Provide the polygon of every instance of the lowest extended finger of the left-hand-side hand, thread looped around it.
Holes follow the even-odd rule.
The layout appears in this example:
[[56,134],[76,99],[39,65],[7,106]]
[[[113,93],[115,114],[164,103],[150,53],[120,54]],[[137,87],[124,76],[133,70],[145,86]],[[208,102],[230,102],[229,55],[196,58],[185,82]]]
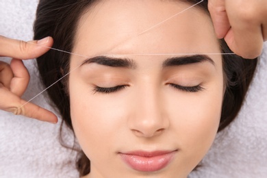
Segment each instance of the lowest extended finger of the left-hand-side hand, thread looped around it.
[[45,110],[33,103],[26,103],[23,99],[10,92],[7,88],[0,85],[0,109],[12,112],[16,115],[23,115],[29,118],[36,118],[38,120],[49,123],[57,123],[58,118],[52,112]]

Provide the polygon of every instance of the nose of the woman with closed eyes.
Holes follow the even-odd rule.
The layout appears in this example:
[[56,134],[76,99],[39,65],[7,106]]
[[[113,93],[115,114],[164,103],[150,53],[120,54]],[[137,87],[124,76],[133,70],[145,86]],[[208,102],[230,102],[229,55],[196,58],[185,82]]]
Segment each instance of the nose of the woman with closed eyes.
[[128,125],[138,137],[151,138],[159,136],[169,126],[169,120],[164,114],[164,102],[159,92],[143,92],[133,100],[133,114]]

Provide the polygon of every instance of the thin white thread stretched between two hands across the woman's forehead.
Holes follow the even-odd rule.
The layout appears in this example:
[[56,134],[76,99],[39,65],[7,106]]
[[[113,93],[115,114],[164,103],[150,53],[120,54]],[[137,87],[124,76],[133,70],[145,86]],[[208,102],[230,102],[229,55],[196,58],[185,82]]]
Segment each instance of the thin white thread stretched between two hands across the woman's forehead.
[[[160,23],[157,23],[156,25],[153,25],[152,27],[149,27],[149,29],[146,29],[144,31],[142,31],[140,34],[138,34],[138,36],[146,33],[147,31],[150,31],[151,29],[154,29],[155,27],[158,27],[160,25],[162,25],[163,23],[165,23],[166,21],[169,21],[171,18],[174,18],[175,16],[183,13],[183,12],[186,12],[187,10],[189,10],[190,8],[193,8],[195,5],[198,5],[199,3],[202,3],[204,0],[201,0],[199,1],[198,3],[190,6],[189,8],[186,8],[185,10],[182,10],[181,12],[173,15],[173,16],[170,16],[169,18],[165,19],[164,21],[160,22]],[[32,42],[28,42],[29,44],[34,44]],[[79,57],[83,57],[83,58],[89,58],[88,56],[86,55],[80,55],[80,54],[77,54],[77,53],[71,53],[69,51],[64,51],[64,50],[61,50],[61,49],[55,49],[55,48],[52,48],[52,47],[45,47],[45,46],[42,46],[40,44],[34,44],[34,45],[37,45],[37,46],[40,46],[40,47],[44,47],[44,48],[48,48],[48,49],[52,49],[52,50],[55,50],[55,51],[60,51],[62,53],[69,53],[71,55],[77,55]],[[120,55],[234,55],[235,53],[136,53],[136,54],[120,54]],[[112,55],[112,54],[104,54],[104,55]],[[114,54],[113,54],[114,55]],[[117,55],[117,54],[116,54]],[[79,65],[81,66],[81,64]],[[75,71],[77,68],[79,68],[79,66],[73,68],[73,70],[71,70],[70,72],[66,73],[66,75],[64,75],[63,77],[61,77],[60,79],[58,79],[57,81],[55,81],[53,84],[51,84],[49,87],[45,88],[44,90],[42,90],[40,93],[36,94],[35,97],[29,99],[29,101],[27,101],[26,103],[24,103],[23,105],[21,105],[21,107],[23,107],[24,105],[26,105],[27,103],[29,103],[30,101],[36,99],[36,97],[38,97],[40,94],[42,94],[43,92],[45,92],[46,90],[48,90],[49,88],[51,88],[53,85],[55,85],[56,83],[58,83],[58,81],[64,79],[64,77],[66,77],[67,75],[69,75],[70,73],[72,73],[73,71]]]

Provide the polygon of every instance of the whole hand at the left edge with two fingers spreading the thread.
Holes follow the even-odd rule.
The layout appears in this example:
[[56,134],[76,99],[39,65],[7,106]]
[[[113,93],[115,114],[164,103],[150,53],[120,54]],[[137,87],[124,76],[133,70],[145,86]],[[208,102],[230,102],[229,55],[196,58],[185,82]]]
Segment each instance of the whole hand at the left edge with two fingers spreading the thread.
[[0,110],[57,123],[58,118],[52,112],[33,103],[23,105],[26,101],[21,96],[29,84],[29,73],[22,60],[37,58],[49,51],[49,48],[30,43],[51,47],[53,39],[48,37],[27,43],[0,36],[0,56],[13,58],[10,65],[0,61]]

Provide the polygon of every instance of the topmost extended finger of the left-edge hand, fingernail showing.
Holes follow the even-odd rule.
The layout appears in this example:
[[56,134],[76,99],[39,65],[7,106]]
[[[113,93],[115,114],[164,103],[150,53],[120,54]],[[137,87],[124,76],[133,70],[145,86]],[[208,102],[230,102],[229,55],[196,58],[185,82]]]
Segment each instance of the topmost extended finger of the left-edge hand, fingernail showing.
[[53,44],[53,38],[24,42],[0,36],[0,56],[6,56],[21,60],[38,58],[49,51]]

